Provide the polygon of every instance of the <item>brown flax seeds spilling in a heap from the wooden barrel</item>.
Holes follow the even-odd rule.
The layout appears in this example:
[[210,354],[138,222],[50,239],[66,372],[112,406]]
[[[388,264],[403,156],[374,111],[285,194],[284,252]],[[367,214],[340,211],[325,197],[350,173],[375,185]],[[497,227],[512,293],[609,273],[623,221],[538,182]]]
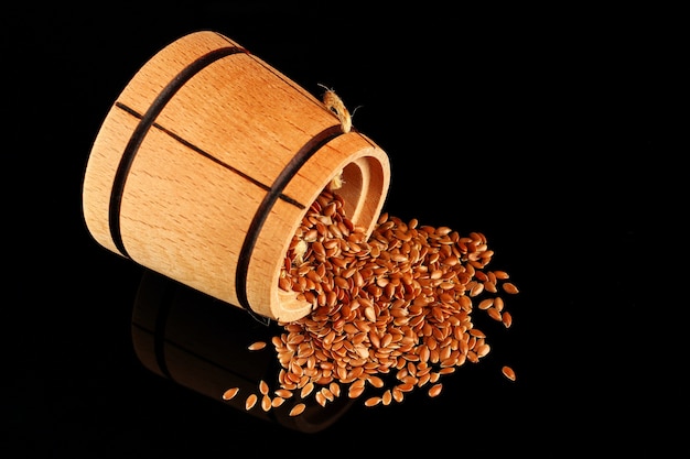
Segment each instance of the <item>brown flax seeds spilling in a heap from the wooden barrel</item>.
[[[321,193],[292,239],[279,286],[312,310],[279,323],[284,331],[272,338],[278,387],[260,381],[257,392],[246,394],[247,411],[268,412],[290,401],[297,416],[309,397],[325,407],[367,387],[376,395],[365,398],[366,406],[402,402],[414,390],[434,397],[442,375],[490,351],[473,324],[475,308],[511,325],[500,295],[518,288],[505,271],[487,269],[494,252],[484,234],[461,236],[385,212],[367,237],[345,215],[339,186],[334,179]],[[249,350],[265,347],[255,342]],[[502,370],[515,381],[510,367]],[[231,387],[223,398],[237,394]]]

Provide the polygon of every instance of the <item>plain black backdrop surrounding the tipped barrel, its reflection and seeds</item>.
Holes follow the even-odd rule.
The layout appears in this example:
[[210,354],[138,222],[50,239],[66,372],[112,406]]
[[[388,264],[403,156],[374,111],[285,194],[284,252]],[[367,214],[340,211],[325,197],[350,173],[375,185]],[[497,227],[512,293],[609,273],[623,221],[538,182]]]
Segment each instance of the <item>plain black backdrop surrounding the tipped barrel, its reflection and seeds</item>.
[[[687,453],[687,422],[671,420],[687,408],[686,360],[669,356],[688,305],[661,298],[687,284],[673,267],[687,194],[687,147],[671,142],[687,132],[677,13],[446,4],[7,9],[3,457]],[[356,403],[302,434],[137,359],[144,271],[90,238],[83,173],[128,80],[197,30],[358,107],[355,127],[391,160],[389,214],[487,236],[520,287],[514,326],[487,323],[492,353],[439,397]]]

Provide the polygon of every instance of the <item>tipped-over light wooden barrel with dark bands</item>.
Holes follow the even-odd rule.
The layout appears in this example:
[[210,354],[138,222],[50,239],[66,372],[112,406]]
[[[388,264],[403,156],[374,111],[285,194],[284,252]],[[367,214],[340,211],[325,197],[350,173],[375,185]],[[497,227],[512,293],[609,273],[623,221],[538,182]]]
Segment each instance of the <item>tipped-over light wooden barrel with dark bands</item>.
[[84,175],[88,231],[106,249],[274,320],[311,305],[278,287],[290,241],[338,174],[368,233],[387,154],[294,81],[213,31],[158,52],[125,87]]

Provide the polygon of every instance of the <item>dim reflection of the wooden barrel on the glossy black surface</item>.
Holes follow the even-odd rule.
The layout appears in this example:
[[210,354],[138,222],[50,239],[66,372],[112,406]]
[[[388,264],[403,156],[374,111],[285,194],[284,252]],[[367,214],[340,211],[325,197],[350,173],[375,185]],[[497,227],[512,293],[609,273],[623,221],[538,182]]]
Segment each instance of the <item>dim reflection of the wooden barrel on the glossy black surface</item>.
[[[351,406],[348,397],[337,397],[325,407],[313,397],[304,401],[306,411],[290,416],[295,401],[265,411],[260,406],[259,381],[278,389],[280,370],[271,338],[282,331],[274,323],[267,326],[240,308],[227,305],[159,273],[145,270],[132,312],[132,343],[141,363],[162,378],[283,427],[315,433],[335,423]],[[256,341],[262,350],[249,350]],[[223,400],[223,393],[239,387],[239,394]],[[248,394],[259,403],[246,409]]]

